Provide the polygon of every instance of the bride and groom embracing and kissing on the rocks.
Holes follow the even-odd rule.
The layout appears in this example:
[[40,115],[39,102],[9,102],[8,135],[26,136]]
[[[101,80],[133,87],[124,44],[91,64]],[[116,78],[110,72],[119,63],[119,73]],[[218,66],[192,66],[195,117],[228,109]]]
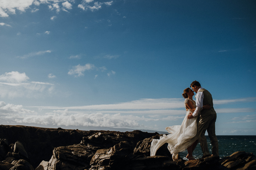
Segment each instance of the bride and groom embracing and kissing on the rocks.
[[[153,139],[151,142],[150,156],[154,156],[157,150],[165,143],[168,143],[168,150],[172,154],[172,159],[178,159],[178,153],[188,151],[186,158],[193,160],[192,153],[196,145],[200,142],[203,158],[218,155],[218,139],[215,135],[215,121],[217,118],[213,108],[212,95],[198,81],[193,81],[190,88],[183,91],[185,98],[186,116],[181,125],[166,127],[169,135],[163,135],[160,139]],[[196,92],[196,102],[192,97]],[[212,144],[212,155],[209,153],[205,132]]]

